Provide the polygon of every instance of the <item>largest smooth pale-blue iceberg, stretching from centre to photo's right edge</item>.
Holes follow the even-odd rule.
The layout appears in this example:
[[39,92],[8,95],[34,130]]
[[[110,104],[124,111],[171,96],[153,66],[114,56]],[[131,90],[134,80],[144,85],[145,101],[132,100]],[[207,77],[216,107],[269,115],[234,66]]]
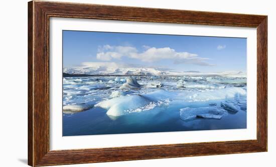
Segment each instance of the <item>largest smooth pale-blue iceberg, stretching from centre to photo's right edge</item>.
[[[172,92],[159,89],[145,94],[131,94],[127,96],[114,97],[112,99],[104,100],[97,103],[95,106],[105,108],[106,114],[110,116],[120,116],[128,114],[129,111],[140,111],[145,108],[146,105],[157,104],[159,101],[170,101],[180,100],[183,102],[191,101],[207,101],[207,100],[218,100],[225,98],[233,98],[237,95],[246,95],[246,91],[240,87],[229,87],[223,90],[212,90],[212,91],[197,91],[197,92]],[[217,108],[210,106],[209,108]],[[139,109],[140,108],[140,109]],[[204,109],[204,108],[203,108]],[[201,113],[202,114],[202,113]],[[205,115],[205,117],[207,117]]]

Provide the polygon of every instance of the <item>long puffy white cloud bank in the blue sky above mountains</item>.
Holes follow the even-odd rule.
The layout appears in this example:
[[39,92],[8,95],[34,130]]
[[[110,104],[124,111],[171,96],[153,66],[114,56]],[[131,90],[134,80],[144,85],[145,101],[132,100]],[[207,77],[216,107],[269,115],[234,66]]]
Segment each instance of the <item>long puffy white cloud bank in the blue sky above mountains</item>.
[[171,59],[175,63],[192,63],[197,65],[214,65],[209,64],[205,60],[209,58],[199,57],[197,54],[189,52],[177,52],[175,49],[170,47],[150,47],[143,45],[145,51],[139,52],[135,47],[132,46],[110,46],[103,45],[99,46],[97,59],[110,61],[111,59],[120,59],[122,56],[129,58],[140,59],[146,62],[159,61],[161,59]]

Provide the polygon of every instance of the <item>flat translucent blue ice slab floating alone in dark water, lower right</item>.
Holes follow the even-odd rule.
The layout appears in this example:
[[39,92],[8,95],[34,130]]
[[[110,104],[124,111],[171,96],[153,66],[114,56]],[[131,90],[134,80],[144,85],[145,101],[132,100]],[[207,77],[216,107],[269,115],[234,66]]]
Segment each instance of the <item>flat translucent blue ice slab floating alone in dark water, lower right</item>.
[[191,120],[195,118],[212,118],[220,119],[222,116],[227,115],[227,112],[218,107],[207,106],[199,108],[181,108],[180,109],[180,118],[182,120]]

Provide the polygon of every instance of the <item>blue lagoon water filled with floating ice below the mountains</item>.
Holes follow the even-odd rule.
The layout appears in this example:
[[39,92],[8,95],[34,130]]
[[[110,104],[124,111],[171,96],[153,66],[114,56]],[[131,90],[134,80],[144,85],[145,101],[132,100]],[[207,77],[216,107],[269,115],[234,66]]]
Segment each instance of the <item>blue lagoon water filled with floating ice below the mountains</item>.
[[128,77],[64,77],[63,136],[246,128],[246,78]]

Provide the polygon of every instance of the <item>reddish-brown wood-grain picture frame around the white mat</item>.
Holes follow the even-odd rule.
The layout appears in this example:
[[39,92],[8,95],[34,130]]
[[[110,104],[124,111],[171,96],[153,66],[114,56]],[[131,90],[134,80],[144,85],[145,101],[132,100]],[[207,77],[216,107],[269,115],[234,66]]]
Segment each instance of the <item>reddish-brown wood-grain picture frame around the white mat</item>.
[[[28,4],[28,164],[74,164],[267,151],[267,16],[30,1]],[[257,139],[49,150],[49,18],[243,26],[257,28]]]

